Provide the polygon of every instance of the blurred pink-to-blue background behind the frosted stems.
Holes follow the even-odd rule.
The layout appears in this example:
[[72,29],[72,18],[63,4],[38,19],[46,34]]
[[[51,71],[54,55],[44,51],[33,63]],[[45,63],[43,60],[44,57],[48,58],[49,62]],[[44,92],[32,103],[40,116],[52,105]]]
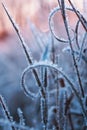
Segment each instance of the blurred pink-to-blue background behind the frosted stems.
[[[72,0],[72,2],[87,18],[87,0]],[[4,4],[18,24],[33,57],[39,60],[44,46],[50,39],[48,17],[50,11],[58,5],[57,0],[4,0]],[[69,6],[67,0],[66,4]],[[72,12],[67,13],[70,25],[74,28],[77,17]],[[54,16],[54,25],[56,34],[65,37],[60,14]],[[32,100],[24,95],[20,85],[21,74],[25,67],[27,67],[27,62],[20,41],[0,2],[0,93],[5,97],[13,117],[17,119],[17,108],[20,107],[28,120],[27,123],[32,126],[37,119],[29,121],[28,111],[31,109],[30,114],[32,113],[33,116],[36,113],[32,107],[29,108]],[[34,86],[32,78],[30,86]],[[33,101],[33,105],[37,106],[38,102]],[[36,109],[39,112],[39,108]]]

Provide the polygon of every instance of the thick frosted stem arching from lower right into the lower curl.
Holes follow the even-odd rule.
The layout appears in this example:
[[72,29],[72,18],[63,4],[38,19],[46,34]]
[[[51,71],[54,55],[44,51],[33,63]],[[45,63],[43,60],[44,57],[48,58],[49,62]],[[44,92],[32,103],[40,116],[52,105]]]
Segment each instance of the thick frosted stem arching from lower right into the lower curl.
[[[84,121],[86,123],[86,121],[87,121],[87,114],[86,114],[86,111],[84,109],[84,105],[83,105],[82,99],[81,99],[80,95],[78,94],[78,92],[76,90],[76,86],[71,82],[69,77],[61,69],[57,68],[56,66],[57,65],[52,64],[52,63],[48,63],[48,62],[47,63],[39,62],[39,63],[36,63],[34,65],[31,65],[31,66],[27,67],[26,70],[24,71],[24,73],[22,75],[22,83],[24,84],[26,73],[29,72],[30,70],[34,69],[34,68],[39,68],[39,67],[45,67],[46,68],[46,67],[48,67],[49,69],[53,69],[56,73],[59,72],[67,80],[67,82],[71,86],[72,90],[74,91],[76,97],[78,98],[78,101],[79,101],[80,106],[81,106],[82,111],[83,111]],[[24,85],[24,87],[25,87],[25,85]]]

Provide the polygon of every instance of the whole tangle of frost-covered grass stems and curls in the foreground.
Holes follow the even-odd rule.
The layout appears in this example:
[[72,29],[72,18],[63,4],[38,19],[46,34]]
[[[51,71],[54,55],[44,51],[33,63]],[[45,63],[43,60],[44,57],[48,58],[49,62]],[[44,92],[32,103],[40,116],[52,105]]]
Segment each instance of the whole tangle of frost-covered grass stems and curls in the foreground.
[[[74,7],[71,0],[68,0],[68,2],[70,8],[66,7],[65,0],[58,0],[58,7],[51,11],[48,19],[49,35],[45,40],[46,43],[41,39],[35,26],[29,22],[33,36],[39,46],[37,52],[40,55],[39,61],[34,59],[31,48],[28,47],[19,27],[2,3],[20,40],[27,60],[27,67],[23,70],[21,68],[22,62],[18,64],[21,68],[20,72],[18,66],[15,68],[21,75],[18,76],[20,77],[18,81],[21,82],[22,90],[13,91],[16,96],[10,99],[11,111],[8,110],[7,103],[0,95],[1,110],[4,113],[4,116],[2,113],[0,118],[0,129],[87,129],[87,21]],[[73,29],[69,26],[70,19],[68,19],[67,11],[73,12],[77,16],[78,20]],[[67,39],[60,38],[55,33],[53,21],[56,13],[62,16]],[[81,37],[80,31],[82,31]],[[59,47],[60,44],[62,44],[62,47]],[[23,56],[20,56],[20,58],[23,58]],[[15,109],[18,116],[14,114]],[[13,114],[15,116],[12,117]]]

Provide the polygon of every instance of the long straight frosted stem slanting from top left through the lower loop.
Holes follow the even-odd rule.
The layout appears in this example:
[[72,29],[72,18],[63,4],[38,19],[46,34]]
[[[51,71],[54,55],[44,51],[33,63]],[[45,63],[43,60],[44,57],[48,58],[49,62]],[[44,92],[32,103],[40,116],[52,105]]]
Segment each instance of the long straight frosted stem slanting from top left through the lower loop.
[[[15,31],[16,31],[16,33],[17,33],[19,39],[20,39],[20,41],[21,41],[23,50],[24,50],[24,52],[25,52],[25,55],[26,55],[26,57],[27,57],[27,60],[28,60],[29,64],[33,64],[33,59],[32,59],[32,57],[31,57],[30,54],[29,54],[29,52],[30,52],[30,51],[29,51],[29,48],[28,48],[27,44],[25,43],[25,41],[24,41],[24,39],[23,39],[23,37],[22,37],[22,35],[21,35],[21,33],[20,33],[19,28],[17,27],[15,21],[11,18],[11,16],[10,16],[8,10],[6,9],[6,7],[5,7],[5,5],[4,5],[3,3],[2,3],[2,6],[3,6],[3,8],[4,8],[4,10],[5,10],[5,12],[6,12],[6,14],[7,14],[8,18],[9,18],[9,20],[11,21],[11,23],[12,23],[12,25],[13,25],[13,27],[14,27],[14,29],[15,29]],[[35,76],[35,79],[36,79],[36,81],[37,81],[38,86],[41,87],[42,85],[41,85],[39,76],[38,76],[38,74],[37,74],[37,72],[36,72],[35,69],[33,69],[33,74],[34,74],[34,76]]]

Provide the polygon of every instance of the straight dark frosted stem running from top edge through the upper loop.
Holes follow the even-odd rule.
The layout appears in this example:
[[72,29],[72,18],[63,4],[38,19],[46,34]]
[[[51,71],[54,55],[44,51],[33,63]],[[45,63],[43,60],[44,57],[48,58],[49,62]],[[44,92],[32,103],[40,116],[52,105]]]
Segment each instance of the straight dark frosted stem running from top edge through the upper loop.
[[72,41],[71,41],[71,37],[70,37],[70,33],[69,33],[64,0],[61,0],[61,13],[62,13],[63,21],[64,21],[64,24],[65,24],[66,33],[67,33],[67,36],[68,36],[68,39],[69,39],[69,44],[70,44],[70,48],[71,48],[71,52],[72,52],[74,67],[76,69],[76,73],[77,73],[77,77],[78,77],[78,81],[79,81],[81,95],[82,95],[82,97],[84,97],[84,90],[83,90],[83,86],[82,86],[82,82],[81,82],[81,78],[80,78],[80,74],[79,74],[79,70],[78,70],[78,65],[76,63],[76,59],[75,59],[75,56],[74,56],[74,50],[73,50],[73,47],[72,47]]

